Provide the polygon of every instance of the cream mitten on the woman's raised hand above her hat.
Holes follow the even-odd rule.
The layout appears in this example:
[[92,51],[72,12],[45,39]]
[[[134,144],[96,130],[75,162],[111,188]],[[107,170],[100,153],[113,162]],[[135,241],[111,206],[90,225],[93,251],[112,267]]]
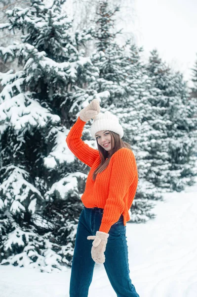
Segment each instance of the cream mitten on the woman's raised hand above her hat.
[[86,107],[81,109],[79,117],[83,122],[95,118],[100,112],[100,104],[98,99],[93,99]]

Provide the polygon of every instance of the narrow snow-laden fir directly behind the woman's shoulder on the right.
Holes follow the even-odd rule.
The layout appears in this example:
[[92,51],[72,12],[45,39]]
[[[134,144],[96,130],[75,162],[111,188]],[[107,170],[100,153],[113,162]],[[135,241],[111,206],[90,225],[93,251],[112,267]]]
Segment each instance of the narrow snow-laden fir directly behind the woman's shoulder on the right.
[[138,165],[138,189],[131,207],[131,220],[134,222],[154,218],[155,214],[150,212],[155,204],[153,200],[162,198],[156,185],[147,178],[150,166],[148,137],[152,135],[154,138],[157,133],[148,122],[155,112],[150,101],[158,94],[158,90],[152,86],[148,78],[141,58],[142,51],[142,48],[128,42],[125,82],[130,88],[129,95],[126,104],[122,104],[122,108],[117,108],[124,129],[124,140],[131,144]]

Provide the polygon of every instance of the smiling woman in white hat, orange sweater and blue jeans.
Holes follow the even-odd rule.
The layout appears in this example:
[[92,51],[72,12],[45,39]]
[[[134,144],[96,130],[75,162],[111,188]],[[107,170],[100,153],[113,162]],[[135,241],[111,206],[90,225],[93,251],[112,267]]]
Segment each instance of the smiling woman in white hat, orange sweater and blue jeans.
[[[91,167],[81,196],[84,207],[76,235],[70,297],[88,296],[95,262],[104,263],[118,297],[139,297],[129,278],[125,234],[128,210],[137,190],[136,161],[130,146],[121,140],[123,129],[118,118],[109,111],[99,112],[99,101],[93,99],[79,112],[66,138],[70,150]],[[90,132],[98,150],[81,140],[83,127],[91,118]]]

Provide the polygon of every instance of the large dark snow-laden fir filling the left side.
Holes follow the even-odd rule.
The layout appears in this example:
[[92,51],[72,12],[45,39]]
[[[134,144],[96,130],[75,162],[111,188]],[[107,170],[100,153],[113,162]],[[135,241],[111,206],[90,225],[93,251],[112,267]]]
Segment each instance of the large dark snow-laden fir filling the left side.
[[83,49],[92,29],[72,33],[64,2],[31,0],[0,26],[23,34],[0,47],[21,67],[0,73],[0,263],[47,272],[71,264],[86,174],[65,139],[98,96],[88,89],[98,68]]

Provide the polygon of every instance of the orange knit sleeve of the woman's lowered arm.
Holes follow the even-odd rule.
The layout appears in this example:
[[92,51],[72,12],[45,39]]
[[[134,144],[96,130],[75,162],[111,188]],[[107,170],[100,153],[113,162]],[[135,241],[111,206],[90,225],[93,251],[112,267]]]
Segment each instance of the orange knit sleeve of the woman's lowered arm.
[[[129,200],[133,200],[137,190],[138,172],[135,156],[129,148],[121,148],[113,158],[109,195],[104,206],[99,231],[108,233],[125,208],[124,197],[130,189]],[[126,201],[127,202],[127,201]]]

